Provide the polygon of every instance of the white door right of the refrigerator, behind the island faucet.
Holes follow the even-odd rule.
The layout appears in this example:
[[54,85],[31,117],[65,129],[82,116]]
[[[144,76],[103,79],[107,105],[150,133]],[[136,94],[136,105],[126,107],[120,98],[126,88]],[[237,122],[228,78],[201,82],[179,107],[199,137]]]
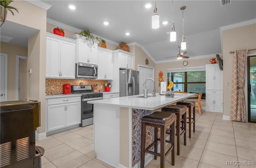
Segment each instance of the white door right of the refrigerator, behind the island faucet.
[[[139,66],[138,71],[140,72],[140,94],[143,94],[143,84],[147,78],[153,78],[153,68],[152,67],[144,67],[144,66]],[[156,86],[158,85],[158,81],[155,81]],[[156,87],[155,86],[155,87]],[[148,80],[146,83],[146,87],[148,90],[148,93],[153,92],[153,82],[151,80]]]

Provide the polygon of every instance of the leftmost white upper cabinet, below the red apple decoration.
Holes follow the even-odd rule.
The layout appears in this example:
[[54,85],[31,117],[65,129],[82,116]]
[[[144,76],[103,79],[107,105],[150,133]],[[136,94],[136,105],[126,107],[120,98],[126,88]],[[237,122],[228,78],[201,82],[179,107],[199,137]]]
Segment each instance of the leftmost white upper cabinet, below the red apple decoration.
[[76,41],[47,33],[46,78],[75,78]]

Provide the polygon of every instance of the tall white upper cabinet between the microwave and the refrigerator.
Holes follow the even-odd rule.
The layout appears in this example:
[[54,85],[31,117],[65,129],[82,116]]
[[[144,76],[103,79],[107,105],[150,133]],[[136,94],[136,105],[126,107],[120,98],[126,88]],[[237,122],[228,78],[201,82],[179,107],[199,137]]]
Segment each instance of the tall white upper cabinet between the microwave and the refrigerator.
[[113,80],[113,56],[112,51],[98,47],[98,78]]

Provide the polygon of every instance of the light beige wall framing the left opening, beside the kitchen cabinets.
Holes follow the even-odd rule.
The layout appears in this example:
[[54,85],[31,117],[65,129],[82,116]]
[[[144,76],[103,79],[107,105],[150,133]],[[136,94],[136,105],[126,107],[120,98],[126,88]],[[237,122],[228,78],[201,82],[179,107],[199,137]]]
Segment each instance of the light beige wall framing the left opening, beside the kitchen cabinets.
[[14,16],[8,12],[7,20],[38,29],[33,37],[28,39],[28,99],[41,102],[41,127],[38,133],[45,132],[45,72],[46,72],[46,10],[24,0],[12,2],[19,13]]

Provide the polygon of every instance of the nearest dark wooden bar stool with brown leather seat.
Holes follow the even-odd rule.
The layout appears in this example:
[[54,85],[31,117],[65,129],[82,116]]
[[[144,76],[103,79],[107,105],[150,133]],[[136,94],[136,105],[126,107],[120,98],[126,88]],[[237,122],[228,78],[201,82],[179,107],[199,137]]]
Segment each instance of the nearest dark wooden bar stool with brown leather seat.
[[[160,168],[164,168],[164,161],[169,152],[172,152],[172,165],[174,166],[174,135],[175,135],[175,114],[155,111],[150,115],[141,118],[141,152],[140,152],[140,168],[144,168],[145,153],[154,155],[154,159],[160,156]],[[146,146],[146,126],[154,127],[154,142],[147,148]],[[168,127],[170,128],[168,129]],[[160,128],[160,138],[158,136],[158,128]],[[166,132],[170,133],[170,141],[166,140]],[[160,141],[160,153],[157,152],[158,141]],[[165,143],[171,143],[172,146],[165,152]],[[154,146],[154,152],[149,150]]]

